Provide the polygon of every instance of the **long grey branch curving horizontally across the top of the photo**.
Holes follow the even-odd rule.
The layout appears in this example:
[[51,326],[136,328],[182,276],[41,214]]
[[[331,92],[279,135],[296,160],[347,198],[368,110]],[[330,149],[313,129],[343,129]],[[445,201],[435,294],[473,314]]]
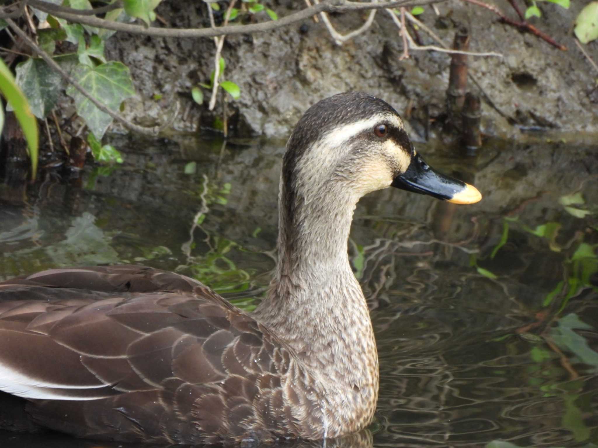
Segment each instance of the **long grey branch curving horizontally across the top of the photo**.
[[[444,1],[444,0],[440,0]],[[361,3],[350,2],[348,0],[325,0],[324,2],[312,5],[297,13],[281,17],[279,20],[271,20],[264,23],[251,23],[247,25],[219,26],[217,28],[158,28],[145,27],[129,23],[111,22],[110,20],[98,19],[97,17],[84,17],[80,13],[72,14],[60,11],[56,5],[41,0],[29,0],[29,5],[38,8],[38,10],[70,22],[81,23],[90,26],[96,26],[104,29],[111,29],[132,34],[142,34],[147,36],[167,37],[167,38],[203,38],[234,34],[248,34],[270,31],[273,29],[287,26],[291,23],[300,22],[309,19],[318,13],[337,13],[345,11],[361,10],[379,10],[382,8],[395,8],[399,6],[411,7],[417,5],[428,5],[438,3],[439,0],[399,0],[393,2],[381,3]]]

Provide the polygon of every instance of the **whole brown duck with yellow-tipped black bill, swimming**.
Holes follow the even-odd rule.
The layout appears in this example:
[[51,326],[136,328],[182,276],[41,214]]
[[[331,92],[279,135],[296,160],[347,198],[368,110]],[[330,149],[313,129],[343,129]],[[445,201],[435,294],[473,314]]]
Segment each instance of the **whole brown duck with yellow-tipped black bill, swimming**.
[[359,198],[390,186],[481,199],[426,164],[384,100],[315,103],[286,145],[278,261],[254,312],[147,266],[3,281],[0,393],[36,425],[98,440],[258,446],[366,428],[379,363],[347,241]]

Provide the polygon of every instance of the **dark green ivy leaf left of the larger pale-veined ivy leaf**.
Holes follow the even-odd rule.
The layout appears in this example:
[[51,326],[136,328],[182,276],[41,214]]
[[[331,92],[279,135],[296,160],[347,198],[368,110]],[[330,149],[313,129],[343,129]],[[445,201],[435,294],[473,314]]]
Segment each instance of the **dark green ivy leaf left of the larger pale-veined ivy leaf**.
[[[60,96],[62,78],[43,59],[29,59],[17,65],[17,84],[29,100],[31,112],[44,119]],[[12,109],[10,109],[12,110]]]

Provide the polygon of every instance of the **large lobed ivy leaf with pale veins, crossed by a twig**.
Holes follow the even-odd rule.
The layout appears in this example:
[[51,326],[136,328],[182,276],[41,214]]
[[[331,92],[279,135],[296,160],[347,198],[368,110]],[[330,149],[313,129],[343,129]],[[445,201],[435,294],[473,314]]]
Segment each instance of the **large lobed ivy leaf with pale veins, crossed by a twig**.
[[[123,100],[135,94],[129,67],[120,62],[108,62],[97,67],[79,65],[72,75],[91,96],[117,111]],[[82,116],[87,126],[98,138],[102,138],[112,122],[112,117],[100,111],[89,99],[72,85],[66,94],[75,99],[77,113]]]

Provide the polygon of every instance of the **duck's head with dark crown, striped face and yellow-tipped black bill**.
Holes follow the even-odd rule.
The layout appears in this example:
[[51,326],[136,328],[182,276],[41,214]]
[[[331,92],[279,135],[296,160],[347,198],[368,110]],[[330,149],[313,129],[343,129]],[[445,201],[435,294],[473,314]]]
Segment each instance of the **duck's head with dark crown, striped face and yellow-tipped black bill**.
[[307,109],[286,148],[282,188],[291,207],[310,191],[334,188],[358,200],[391,185],[457,204],[481,199],[474,186],[426,164],[395,109],[365,93],[340,93]]

